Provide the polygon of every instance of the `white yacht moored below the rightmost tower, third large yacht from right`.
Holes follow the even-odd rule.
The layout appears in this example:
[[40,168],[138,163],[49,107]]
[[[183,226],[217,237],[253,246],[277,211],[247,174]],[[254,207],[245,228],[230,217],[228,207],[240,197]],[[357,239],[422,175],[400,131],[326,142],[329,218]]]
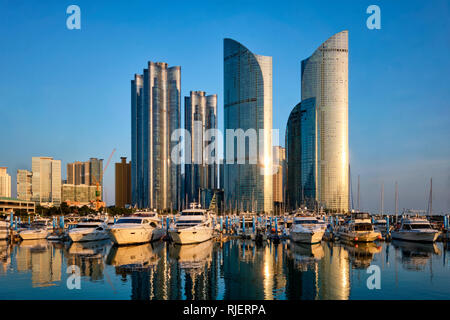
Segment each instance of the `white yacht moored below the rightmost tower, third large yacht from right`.
[[319,243],[325,229],[325,223],[316,217],[295,216],[289,229],[289,237],[294,242]]

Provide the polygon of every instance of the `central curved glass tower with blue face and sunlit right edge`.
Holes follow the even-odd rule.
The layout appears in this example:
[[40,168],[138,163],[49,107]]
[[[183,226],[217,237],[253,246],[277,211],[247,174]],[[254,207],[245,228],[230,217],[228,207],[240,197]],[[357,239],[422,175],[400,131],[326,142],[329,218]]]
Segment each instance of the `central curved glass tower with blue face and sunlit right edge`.
[[258,155],[257,163],[250,163],[255,142],[247,138],[245,155],[238,158],[236,143],[230,155],[225,132],[225,201],[244,210],[255,204],[259,212],[273,212],[272,57],[253,54],[232,39],[224,39],[224,112],[225,130],[256,130]]

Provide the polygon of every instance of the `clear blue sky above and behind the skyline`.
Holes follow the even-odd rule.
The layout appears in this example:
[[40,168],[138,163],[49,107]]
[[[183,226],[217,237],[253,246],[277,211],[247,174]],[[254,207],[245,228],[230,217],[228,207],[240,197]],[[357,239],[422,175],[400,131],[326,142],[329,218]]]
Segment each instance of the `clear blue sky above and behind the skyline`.
[[[81,30],[66,8],[81,8]],[[381,30],[366,8],[381,9]],[[349,30],[350,164],[356,205],[378,211],[450,211],[450,1],[5,1],[0,0],[0,166],[16,193],[16,170],[32,156],[66,164],[130,159],[130,80],[147,61],[181,66],[182,97],[219,96],[223,128],[223,38],[273,57],[273,125],[284,145],[300,101],[300,62],[333,34]],[[184,99],[182,98],[182,101]],[[184,103],[182,109],[184,108]],[[105,161],[106,162],[106,161]]]

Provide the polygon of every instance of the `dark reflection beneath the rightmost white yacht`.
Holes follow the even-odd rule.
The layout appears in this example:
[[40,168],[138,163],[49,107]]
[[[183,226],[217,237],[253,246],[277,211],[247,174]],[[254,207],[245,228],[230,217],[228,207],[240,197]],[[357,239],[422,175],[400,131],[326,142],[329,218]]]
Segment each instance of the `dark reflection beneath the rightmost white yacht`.
[[392,245],[402,253],[401,262],[405,269],[422,271],[433,254],[440,255],[441,250],[436,243],[419,243],[401,240],[393,240]]

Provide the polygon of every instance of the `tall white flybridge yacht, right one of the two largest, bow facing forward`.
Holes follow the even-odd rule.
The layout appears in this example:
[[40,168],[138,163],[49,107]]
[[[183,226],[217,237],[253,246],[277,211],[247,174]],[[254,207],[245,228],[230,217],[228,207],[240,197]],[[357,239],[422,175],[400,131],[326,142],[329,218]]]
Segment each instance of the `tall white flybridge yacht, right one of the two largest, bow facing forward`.
[[193,244],[212,238],[214,226],[208,211],[196,204],[183,210],[175,224],[169,229],[169,235],[177,244]]

